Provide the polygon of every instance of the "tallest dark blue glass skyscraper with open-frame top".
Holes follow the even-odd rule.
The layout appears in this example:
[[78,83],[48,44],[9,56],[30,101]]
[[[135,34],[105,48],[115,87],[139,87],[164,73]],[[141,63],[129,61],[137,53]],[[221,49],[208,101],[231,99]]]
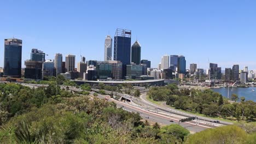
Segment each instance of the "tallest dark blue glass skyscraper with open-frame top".
[[123,63],[123,77],[126,76],[126,65],[131,63],[131,31],[117,29],[114,37],[114,61]]

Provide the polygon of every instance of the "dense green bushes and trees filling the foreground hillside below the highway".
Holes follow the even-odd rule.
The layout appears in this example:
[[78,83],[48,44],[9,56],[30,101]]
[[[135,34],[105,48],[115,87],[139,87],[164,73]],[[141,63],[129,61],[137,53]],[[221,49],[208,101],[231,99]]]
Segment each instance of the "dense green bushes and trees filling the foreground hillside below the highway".
[[[61,90],[0,84],[0,143],[254,143],[255,125],[208,129],[142,122],[104,99]],[[206,140],[207,141],[206,141]]]

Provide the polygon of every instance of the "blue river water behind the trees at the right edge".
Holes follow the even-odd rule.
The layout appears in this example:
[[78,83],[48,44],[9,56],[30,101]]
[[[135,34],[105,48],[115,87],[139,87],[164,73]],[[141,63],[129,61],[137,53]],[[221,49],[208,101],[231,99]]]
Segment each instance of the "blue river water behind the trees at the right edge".
[[[211,88],[212,91],[218,92],[223,95],[223,97],[228,98],[228,88]],[[255,90],[255,91],[253,91]],[[229,98],[231,94],[237,94],[238,97],[245,97],[246,100],[253,100],[256,102],[256,87],[248,87],[248,88],[241,88],[241,87],[232,87],[229,88]],[[240,99],[238,100],[240,101]]]

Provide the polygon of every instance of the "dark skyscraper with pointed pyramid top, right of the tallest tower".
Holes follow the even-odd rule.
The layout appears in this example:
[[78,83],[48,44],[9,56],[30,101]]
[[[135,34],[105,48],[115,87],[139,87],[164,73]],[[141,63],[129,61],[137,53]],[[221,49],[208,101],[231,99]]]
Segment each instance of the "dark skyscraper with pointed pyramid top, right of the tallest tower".
[[141,45],[138,40],[131,47],[131,62],[139,64],[141,62]]

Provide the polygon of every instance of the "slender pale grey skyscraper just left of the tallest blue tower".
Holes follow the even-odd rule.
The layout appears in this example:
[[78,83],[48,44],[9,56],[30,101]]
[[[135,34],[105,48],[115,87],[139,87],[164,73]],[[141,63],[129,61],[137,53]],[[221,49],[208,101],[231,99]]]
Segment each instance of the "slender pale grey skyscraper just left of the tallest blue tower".
[[104,61],[112,61],[112,41],[111,36],[107,35],[105,38]]

